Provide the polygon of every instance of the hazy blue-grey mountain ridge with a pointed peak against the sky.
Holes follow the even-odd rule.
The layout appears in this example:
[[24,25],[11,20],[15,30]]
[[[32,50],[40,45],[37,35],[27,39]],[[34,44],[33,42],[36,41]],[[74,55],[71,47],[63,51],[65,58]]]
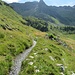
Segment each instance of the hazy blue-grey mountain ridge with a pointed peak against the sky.
[[47,6],[43,0],[39,2],[11,3],[10,6],[23,17],[35,16],[50,22],[53,22],[50,17],[54,17],[63,24],[75,25],[74,6]]

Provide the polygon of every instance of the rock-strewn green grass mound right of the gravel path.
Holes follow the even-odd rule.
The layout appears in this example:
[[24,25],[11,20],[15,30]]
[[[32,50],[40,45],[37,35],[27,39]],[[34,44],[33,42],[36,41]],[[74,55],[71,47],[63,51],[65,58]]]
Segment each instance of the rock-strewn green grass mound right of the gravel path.
[[[30,56],[34,58],[30,58]],[[64,74],[70,75],[71,73],[69,74],[68,71],[74,71],[74,61],[72,52],[67,48],[58,45],[55,41],[39,38],[36,47],[23,62],[19,75],[61,75],[61,67],[56,66],[57,64],[67,66]],[[29,62],[33,62],[33,64],[29,65]]]

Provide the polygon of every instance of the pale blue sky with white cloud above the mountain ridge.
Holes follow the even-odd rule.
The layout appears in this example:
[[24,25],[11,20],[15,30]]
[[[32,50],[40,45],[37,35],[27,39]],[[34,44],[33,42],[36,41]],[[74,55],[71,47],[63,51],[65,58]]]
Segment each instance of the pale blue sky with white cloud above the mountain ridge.
[[[27,1],[39,1],[39,0],[3,0],[7,3],[19,2],[25,3]],[[75,0],[43,0],[47,5],[52,6],[73,6],[75,5]]]

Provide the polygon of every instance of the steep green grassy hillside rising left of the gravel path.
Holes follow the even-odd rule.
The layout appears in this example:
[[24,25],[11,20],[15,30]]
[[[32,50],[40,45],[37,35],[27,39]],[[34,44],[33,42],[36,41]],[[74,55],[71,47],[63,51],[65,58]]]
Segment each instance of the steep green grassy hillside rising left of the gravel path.
[[25,26],[25,23],[8,4],[0,0],[0,75],[8,75],[12,59],[32,45],[35,35],[41,36],[40,31]]

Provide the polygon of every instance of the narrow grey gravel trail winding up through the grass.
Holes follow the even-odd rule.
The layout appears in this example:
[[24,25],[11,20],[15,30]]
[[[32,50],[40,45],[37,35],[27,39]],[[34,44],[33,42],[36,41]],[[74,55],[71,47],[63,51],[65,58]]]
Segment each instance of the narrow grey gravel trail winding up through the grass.
[[26,49],[23,53],[19,54],[13,61],[14,65],[11,67],[9,75],[18,75],[21,70],[22,62],[26,59],[31,50],[35,47],[36,41],[33,41],[33,46]]

